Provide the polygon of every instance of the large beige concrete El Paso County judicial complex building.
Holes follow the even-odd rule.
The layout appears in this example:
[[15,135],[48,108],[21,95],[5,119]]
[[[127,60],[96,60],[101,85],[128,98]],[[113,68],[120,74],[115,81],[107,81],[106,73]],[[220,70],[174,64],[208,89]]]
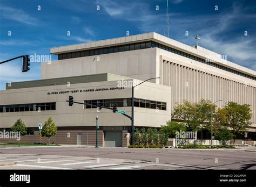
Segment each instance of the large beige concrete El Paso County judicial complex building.
[[[250,104],[256,130],[256,71],[222,58],[200,46],[188,46],[157,33],[145,33],[85,44],[54,47],[57,61],[42,63],[41,80],[6,83],[0,91],[0,128],[10,128],[19,118],[28,128],[21,142],[39,142],[38,124],[52,117],[58,127],[51,143],[95,145],[98,115],[99,146],[127,146],[131,120],[111,110],[73,104],[66,100],[104,106],[117,104],[131,116],[132,81],[134,126],[160,127],[171,120],[175,105],[201,98]],[[135,83],[134,83],[135,85]],[[40,110],[38,110],[40,108]],[[70,136],[69,136],[70,135]],[[16,142],[1,139],[0,142]],[[43,142],[48,142],[44,137]]]

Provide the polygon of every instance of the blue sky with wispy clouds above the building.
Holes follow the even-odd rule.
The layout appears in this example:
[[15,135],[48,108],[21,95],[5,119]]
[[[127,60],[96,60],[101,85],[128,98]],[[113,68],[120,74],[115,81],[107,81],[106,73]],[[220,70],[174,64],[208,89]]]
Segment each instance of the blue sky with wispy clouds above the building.
[[[200,46],[256,70],[255,7],[256,1],[245,0],[169,0],[170,38],[195,45],[199,34]],[[165,12],[166,0],[0,0],[0,61],[49,55],[51,47],[123,37],[126,31],[164,34]],[[0,90],[6,82],[40,79],[40,63],[31,63],[27,73],[21,66],[21,59],[0,65]]]

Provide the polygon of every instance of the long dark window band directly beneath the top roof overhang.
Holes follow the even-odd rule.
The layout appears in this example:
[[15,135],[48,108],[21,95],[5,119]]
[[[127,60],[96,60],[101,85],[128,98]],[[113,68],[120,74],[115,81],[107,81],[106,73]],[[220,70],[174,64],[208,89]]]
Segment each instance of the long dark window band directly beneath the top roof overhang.
[[124,52],[124,51],[133,51],[133,50],[145,49],[145,48],[151,48],[151,47],[158,47],[160,49],[164,49],[164,50],[169,51],[171,53],[175,53],[175,54],[178,54],[178,55],[181,55],[181,56],[185,56],[185,57],[190,58],[192,60],[196,60],[198,62],[202,62],[202,63],[208,64],[210,66],[213,66],[213,67],[216,67],[216,68],[219,68],[219,69],[223,69],[223,70],[229,71],[231,73],[238,74],[240,76],[250,78],[252,80],[256,80],[256,77],[253,77],[251,75],[247,75],[247,74],[241,73],[239,71],[233,70],[231,68],[221,66],[220,64],[217,64],[217,63],[214,63],[214,62],[207,62],[205,59],[201,59],[200,57],[197,57],[197,56],[179,51],[177,49],[159,44],[158,42],[154,42],[154,41],[139,42],[139,43],[134,43],[134,44],[104,47],[104,48],[98,48],[98,49],[89,49],[89,50],[79,51],[79,52],[63,53],[63,54],[58,54],[58,60],[72,59],[72,58],[83,57],[83,56],[93,56],[93,55],[101,55],[101,54],[109,54],[109,53],[118,53],[118,52]]

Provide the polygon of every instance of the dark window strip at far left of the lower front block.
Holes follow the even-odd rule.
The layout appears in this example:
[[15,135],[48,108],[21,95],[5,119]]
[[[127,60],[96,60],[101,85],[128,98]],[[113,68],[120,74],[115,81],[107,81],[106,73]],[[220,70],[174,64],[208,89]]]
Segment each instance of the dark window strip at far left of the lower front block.
[[24,112],[56,110],[56,103],[30,103],[16,105],[0,105],[0,112]]

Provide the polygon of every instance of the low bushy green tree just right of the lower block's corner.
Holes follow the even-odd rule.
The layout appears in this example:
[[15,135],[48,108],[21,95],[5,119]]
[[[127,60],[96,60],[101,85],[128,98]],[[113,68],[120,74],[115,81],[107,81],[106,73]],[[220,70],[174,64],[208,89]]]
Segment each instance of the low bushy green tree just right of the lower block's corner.
[[165,133],[167,138],[175,138],[176,132],[186,131],[186,126],[175,121],[167,121],[165,126],[161,126],[160,132]]

